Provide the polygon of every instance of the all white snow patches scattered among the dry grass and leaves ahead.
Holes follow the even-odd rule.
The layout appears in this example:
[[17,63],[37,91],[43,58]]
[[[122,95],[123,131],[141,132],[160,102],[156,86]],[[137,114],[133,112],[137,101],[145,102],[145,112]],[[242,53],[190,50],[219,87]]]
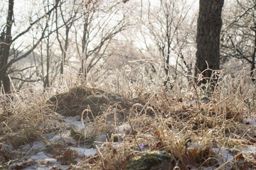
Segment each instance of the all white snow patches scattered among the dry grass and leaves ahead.
[[[83,123],[81,122],[80,116],[63,118],[62,120],[63,120],[63,123],[65,123],[65,126],[67,127],[67,129],[74,128],[75,130],[82,130],[84,128],[85,130],[87,130],[89,128],[89,126],[85,127],[85,121]],[[250,126],[256,126],[256,121],[254,119],[247,118],[245,119],[245,122],[250,123],[250,125],[248,124],[248,128],[250,128]],[[127,135],[130,130],[131,130],[131,127],[128,123],[124,123],[123,125],[119,125],[117,127],[117,132],[119,132],[120,135]],[[70,130],[65,130],[60,134],[58,134],[57,132],[51,132],[48,135],[46,135],[46,138],[49,142],[63,142],[65,144],[70,144],[68,145],[69,147],[66,147],[65,149],[75,150],[76,152],[78,152],[80,157],[84,157],[84,156],[90,157],[90,155],[93,156],[97,153],[96,149],[89,149],[84,146],[78,145],[77,141],[75,141],[73,137],[70,137]],[[107,135],[103,134],[103,135],[97,136],[95,141],[106,142],[106,139],[107,139]],[[48,152],[46,151],[46,145],[47,145],[47,142],[34,141],[34,142],[31,142],[30,144],[23,146],[21,149],[19,149],[19,152],[26,155],[25,156],[27,158],[26,162],[28,162],[29,160],[36,162],[35,164],[33,164],[33,166],[26,167],[25,170],[32,170],[32,169],[48,170],[48,169],[53,169],[57,167],[60,169],[68,169],[68,165],[61,165],[60,162],[57,162],[56,157],[58,156],[53,156],[52,154],[50,154],[49,151]],[[198,145],[200,145],[198,142],[193,142],[193,144],[191,144],[191,147],[197,148]],[[213,150],[215,151],[216,154],[221,155],[221,157],[223,158],[220,164],[223,164],[229,161],[233,162],[232,159],[234,159],[234,153],[231,152],[230,149],[226,147],[220,147],[220,148],[213,147]],[[250,157],[252,154],[255,154],[256,146],[250,145],[250,146],[240,147],[239,152],[242,152],[243,154],[245,154],[245,157]],[[15,167],[17,164],[23,164],[24,160],[20,160],[20,162],[11,164],[11,166]],[[82,161],[80,158],[77,158],[76,160],[78,162]]]

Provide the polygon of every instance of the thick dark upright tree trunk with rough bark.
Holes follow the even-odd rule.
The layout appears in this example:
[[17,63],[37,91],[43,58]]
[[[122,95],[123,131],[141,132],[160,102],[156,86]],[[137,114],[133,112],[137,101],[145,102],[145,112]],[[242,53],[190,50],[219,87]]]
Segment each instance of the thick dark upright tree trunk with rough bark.
[[[195,76],[203,74],[204,79],[198,85],[206,84],[213,71],[220,69],[220,30],[221,11],[224,0],[200,0],[198,28],[196,35],[196,70]],[[210,80],[215,83],[218,77]]]

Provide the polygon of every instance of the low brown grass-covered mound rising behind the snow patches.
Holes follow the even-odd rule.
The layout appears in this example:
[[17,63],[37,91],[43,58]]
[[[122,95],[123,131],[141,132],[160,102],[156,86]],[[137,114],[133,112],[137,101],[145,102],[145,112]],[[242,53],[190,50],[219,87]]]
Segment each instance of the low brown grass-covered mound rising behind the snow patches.
[[70,91],[52,96],[48,104],[60,115],[83,115],[84,118],[92,120],[102,113],[107,113],[112,119],[114,113],[117,113],[117,119],[122,121],[135,103],[102,89],[77,86]]

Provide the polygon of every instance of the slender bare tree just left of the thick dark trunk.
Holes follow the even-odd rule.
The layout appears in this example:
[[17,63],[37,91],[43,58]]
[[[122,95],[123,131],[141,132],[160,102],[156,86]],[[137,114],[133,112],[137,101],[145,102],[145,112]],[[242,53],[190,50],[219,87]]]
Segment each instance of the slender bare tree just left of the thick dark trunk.
[[[191,63],[184,57],[191,39],[193,30],[193,18],[189,18],[191,4],[181,0],[160,0],[156,4],[149,2],[147,19],[144,22],[146,29],[144,34],[149,32],[148,38],[144,35],[144,42],[147,51],[153,53],[151,42],[154,42],[157,55],[161,59],[164,68],[164,86],[169,86],[171,80],[178,77],[177,69],[182,69],[185,74],[191,74]],[[180,60],[181,62],[179,62]],[[179,66],[179,67],[178,67]],[[151,64],[153,70],[155,67]]]

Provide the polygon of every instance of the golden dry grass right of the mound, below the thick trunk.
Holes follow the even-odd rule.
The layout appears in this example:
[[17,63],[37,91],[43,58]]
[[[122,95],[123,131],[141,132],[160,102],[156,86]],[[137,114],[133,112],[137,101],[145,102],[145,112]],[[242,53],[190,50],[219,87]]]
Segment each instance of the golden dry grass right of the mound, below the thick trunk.
[[144,169],[142,162],[152,161],[152,158],[146,160],[145,155],[159,152],[171,156],[160,165],[155,162],[157,166],[150,169],[234,169],[242,161],[245,169],[250,169],[255,159],[249,161],[234,154],[236,159],[225,162],[225,155],[221,154],[222,150],[255,145],[255,126],[246,121],[255,120],[255,89],[250,86],[241,77],[222,79],[207,98],[199,88],[191,89],[184,97],[161,88],[152,89],[151,93],[140,89],[134,98],[137,104],[127,118],[131,133],[119,145],[109,142],[107,147],[99,148],[99,154],[77,167],[129,169],[134,160]]

